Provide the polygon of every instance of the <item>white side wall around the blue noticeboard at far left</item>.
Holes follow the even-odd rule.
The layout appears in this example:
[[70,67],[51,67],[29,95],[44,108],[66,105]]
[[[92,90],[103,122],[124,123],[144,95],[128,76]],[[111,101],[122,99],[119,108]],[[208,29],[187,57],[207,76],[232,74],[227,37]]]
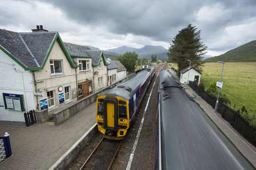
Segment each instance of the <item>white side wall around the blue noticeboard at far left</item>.
[[[35,109],[33,75],[0,50],[0,120],[25,122],[24,112]],[[3,93],[23,95],[26,111],[5,109]]]

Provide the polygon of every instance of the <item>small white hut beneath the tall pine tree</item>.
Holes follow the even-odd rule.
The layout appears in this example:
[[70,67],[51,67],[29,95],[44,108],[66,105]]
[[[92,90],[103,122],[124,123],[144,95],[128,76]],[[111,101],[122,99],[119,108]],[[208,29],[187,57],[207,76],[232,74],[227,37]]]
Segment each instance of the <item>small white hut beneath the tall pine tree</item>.
[[196,70],[194,67],[190,67],[190,69],[189,68],[182,69],[180,71],[180,82],[182,84],[188,83],[188,73],[189,73],[189,81],[195,81],[199,84],[202,73]]

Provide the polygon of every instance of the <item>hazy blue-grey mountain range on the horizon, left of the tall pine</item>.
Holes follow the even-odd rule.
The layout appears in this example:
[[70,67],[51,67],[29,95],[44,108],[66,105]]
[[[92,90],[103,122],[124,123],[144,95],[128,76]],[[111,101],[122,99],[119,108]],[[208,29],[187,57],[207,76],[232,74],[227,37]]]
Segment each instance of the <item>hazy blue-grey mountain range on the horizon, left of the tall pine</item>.
[[139,58],[151,59],[151,55],[157,55],[159,60],[167,60],[167,49],[162,46],[151,46],[147,45],[142,48],[133,48],[122,46],[118,48],[107,49],[108,52],[114,52],[117,54],[123,54],[126,52],[136,52],[139,55]]

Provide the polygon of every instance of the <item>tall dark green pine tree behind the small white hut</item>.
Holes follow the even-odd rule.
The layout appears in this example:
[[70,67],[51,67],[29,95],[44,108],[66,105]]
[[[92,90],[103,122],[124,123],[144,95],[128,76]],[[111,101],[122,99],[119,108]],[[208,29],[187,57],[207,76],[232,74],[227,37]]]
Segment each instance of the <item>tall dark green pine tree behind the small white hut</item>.
[[191,66],[202,71],[202,55],[206,54],[207,46],[202,42],[200,35],[201,30],[189,24],[173,38],[168,60],[177,63],[178,71],[189,66],[188,60],[191,60]]

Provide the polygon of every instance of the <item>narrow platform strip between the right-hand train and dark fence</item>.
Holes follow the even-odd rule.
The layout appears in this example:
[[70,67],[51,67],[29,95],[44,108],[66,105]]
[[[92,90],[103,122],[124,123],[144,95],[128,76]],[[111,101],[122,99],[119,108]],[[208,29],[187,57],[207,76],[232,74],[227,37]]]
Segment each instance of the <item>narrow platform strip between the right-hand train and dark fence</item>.
[[[179,80],[173,70],[169,71],[176,80]],[[196,92],[190,87],[186,87],[185,90],[190,96],[194,96],[194,94],[196,94]],[[244,139],[235,129],[233,129],[232,126],[221,117],[220,113],[215,113],[212,106],[207,104],[204,99],[197,96],[194,100],[233,143],[233,145],[242,153],[242,155],[244,155],[244,157],[256,168],[256,148]]]

